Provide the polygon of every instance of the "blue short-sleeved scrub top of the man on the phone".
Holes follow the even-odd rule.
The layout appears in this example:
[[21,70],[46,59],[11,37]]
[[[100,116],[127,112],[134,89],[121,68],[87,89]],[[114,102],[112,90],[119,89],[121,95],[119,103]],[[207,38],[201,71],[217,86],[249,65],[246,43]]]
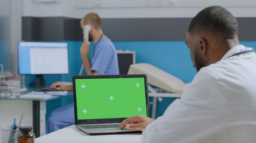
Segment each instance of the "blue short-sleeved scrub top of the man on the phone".
[[94,47],[91,56],[91,71],[101,75],[119,74],[118,54],[109,38],[101,38]]

